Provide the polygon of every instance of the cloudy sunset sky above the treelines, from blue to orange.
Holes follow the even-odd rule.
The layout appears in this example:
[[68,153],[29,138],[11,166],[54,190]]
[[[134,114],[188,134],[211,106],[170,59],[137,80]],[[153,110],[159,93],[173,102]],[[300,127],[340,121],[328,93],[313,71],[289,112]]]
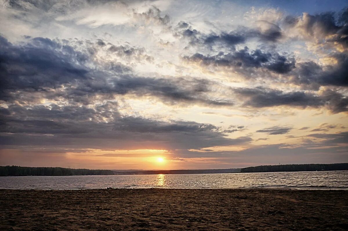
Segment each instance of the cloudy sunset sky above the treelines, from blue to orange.
[[347,7],[0,0],[0,165],[348,162]]

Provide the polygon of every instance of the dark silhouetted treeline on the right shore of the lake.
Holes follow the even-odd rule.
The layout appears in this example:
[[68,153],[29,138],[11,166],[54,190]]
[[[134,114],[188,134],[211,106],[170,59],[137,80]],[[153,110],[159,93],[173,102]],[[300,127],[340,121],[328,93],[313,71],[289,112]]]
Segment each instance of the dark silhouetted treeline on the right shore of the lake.
[[241,172],[299,172],[299,171],[333,171],[333,170],[348,170],[348,163],[261,165],[256,167],[242,168]]

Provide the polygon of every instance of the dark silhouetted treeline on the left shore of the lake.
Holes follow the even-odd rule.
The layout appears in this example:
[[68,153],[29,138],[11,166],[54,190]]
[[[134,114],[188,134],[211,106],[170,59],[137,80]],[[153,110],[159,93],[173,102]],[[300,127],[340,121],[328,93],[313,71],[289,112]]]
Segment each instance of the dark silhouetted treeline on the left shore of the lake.
[[111,170],[90,170],[85,168],[21,167],[0,166],[0,176],[73,176],[73,175],[114,175]]

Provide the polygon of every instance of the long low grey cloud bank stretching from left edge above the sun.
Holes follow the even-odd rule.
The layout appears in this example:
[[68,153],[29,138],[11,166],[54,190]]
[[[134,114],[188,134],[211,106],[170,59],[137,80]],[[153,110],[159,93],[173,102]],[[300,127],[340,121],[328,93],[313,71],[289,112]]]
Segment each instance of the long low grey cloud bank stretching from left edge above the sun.
[[252,141],[226,138],[212,124],[121,116],[115,102],[93,108],[10,105],[0,112],[2,146],[197,149]]

